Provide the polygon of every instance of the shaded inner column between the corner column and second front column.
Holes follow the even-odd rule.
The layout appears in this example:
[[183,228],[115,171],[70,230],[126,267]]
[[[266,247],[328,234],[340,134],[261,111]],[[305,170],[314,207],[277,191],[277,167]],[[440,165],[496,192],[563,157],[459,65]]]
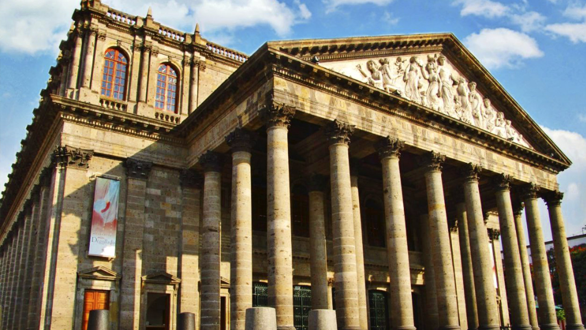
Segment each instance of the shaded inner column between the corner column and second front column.
[[309,179],[309,268],[311,309],[328,307],[328,255],[326,254],[325,213],[323,210],[327,177],[314,174]]

